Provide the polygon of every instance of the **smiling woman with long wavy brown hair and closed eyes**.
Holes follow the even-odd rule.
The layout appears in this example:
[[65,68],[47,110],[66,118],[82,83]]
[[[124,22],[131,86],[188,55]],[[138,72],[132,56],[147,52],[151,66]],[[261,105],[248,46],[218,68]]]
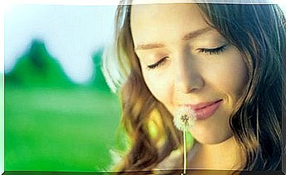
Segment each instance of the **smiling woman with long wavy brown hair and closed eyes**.
[[130,140],[115,170],[181,169],[181,107],[197,118],[188,169],[280,170],[285,24],[273,4],[119,5],[103,63]]

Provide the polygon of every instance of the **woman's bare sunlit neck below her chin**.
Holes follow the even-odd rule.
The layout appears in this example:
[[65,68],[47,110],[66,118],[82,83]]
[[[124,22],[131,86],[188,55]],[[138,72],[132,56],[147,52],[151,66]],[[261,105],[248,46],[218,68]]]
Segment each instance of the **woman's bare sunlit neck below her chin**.
[[190,160],[190,169],[239,170],[242,152],[234,136],[219,144],[197,144],[197,152]]

